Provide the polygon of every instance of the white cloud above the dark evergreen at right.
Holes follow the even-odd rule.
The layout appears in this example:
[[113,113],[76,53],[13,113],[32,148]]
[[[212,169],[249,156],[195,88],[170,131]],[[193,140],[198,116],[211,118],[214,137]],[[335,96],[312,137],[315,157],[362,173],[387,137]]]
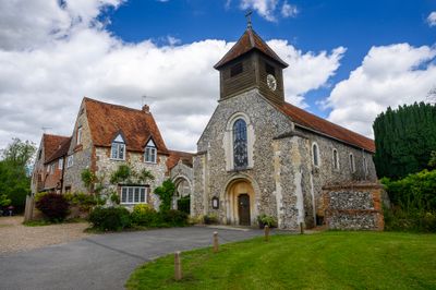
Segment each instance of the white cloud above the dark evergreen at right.
[[387,107],[425,100],[436,85],[436,48],[408,44],[372,47],[361,67],[326,99],[328,119],[373,136],[372,124]]

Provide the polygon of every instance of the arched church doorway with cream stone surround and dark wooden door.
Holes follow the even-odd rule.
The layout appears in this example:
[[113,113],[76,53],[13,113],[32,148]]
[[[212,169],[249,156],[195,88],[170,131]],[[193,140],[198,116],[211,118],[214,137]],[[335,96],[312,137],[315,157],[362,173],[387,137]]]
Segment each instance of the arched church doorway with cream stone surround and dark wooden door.
[[226,192],[227,219],[230,223],[251,226],[255,217],[255,198],[252,183],[245,179],[231,182]]

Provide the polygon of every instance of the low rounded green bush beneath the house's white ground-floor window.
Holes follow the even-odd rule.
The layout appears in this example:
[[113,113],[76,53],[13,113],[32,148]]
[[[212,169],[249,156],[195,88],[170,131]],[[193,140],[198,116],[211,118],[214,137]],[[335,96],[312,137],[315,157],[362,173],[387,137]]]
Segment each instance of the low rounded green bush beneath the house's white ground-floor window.
[[93,228],[104,231],[119,231],[131,226],[130,213],[124,207],[96,207],[89,214]]

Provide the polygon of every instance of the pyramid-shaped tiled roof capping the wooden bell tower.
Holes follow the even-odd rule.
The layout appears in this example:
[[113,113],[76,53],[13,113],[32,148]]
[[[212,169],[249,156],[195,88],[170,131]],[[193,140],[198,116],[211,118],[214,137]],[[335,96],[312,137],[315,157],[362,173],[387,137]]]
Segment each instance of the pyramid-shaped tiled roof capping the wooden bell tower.
[[258,36],[252,28],[247,28],[245,33],[241,36],[238,43],[223,56],[223,58],[215,64],[215,69],[219,69],[229,61],[232,61],[242,55],[256,49],[275,61],[279,62],[282,68],[287,68],[286,63],[279,56],[274,52],[274,50]]

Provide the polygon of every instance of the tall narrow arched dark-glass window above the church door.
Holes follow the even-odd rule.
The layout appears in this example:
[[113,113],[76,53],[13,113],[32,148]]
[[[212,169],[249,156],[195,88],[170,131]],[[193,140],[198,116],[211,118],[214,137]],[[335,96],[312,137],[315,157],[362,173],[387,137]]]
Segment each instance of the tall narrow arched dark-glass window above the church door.
[[233,123],[233,161],[234,169],[244,169],[249,165],[246,123],[238,119]]

